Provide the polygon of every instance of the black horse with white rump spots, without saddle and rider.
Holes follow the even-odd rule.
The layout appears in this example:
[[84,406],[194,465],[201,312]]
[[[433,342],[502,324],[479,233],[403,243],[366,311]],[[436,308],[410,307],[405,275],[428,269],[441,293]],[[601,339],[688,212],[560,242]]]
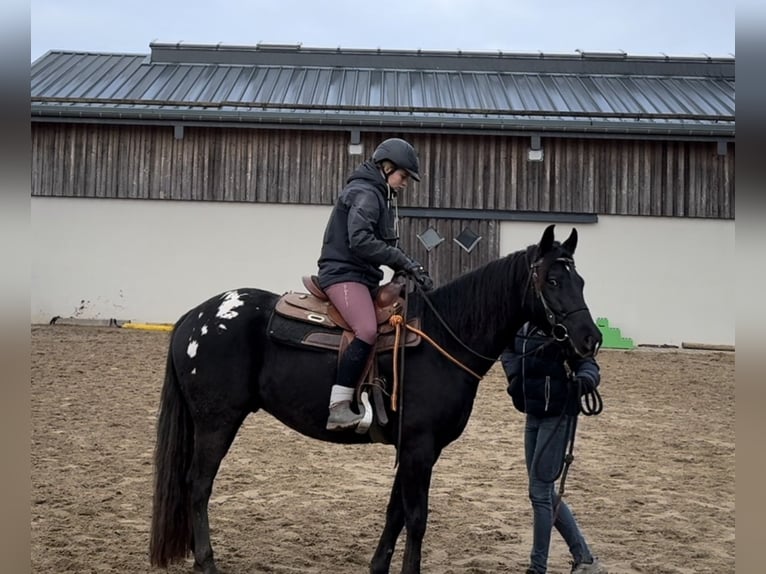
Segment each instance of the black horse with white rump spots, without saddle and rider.
[[[399,349],[399,407],[386,405],[387,440],[378,441],[395,445],[397,464],[371,574],[390,571],[403,528],[401,572],[420,573],[434,464],[465,429],[480,379],[521,325],[533,322],[580,356],[598,351],[601,332],[574,265],[577,230],[560,243],[553,228],[539,243],[432,291],[407,292],[408,316],[420,317],[430,343]],[[154,454],[154,567],[193,553],[196,571],[219,572],[208,502],[221,461],[250,413],[263,409],[322,441],[373,442],[369,433],[325,429],[338,354],[274,341],[268,329],[279,299],[256,288],[227,291],[189,310],[171,331]],[[375,359],[386,381],[397,374],[392,353]]]

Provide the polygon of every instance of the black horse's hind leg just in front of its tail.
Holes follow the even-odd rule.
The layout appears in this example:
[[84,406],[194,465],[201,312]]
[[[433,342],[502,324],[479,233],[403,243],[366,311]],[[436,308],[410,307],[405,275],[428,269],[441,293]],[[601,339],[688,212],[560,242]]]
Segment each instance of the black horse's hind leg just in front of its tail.
[[192,526],[194,532],[194,569],[203,574],[217,574],[210,544],[210,523],[208,503],[213,490],[213,480],[221,466],[223,457],[245,420],[247,413],[206,428],[198,424],[194,432],[194,455],[189,468],[188,481],[191,490]]

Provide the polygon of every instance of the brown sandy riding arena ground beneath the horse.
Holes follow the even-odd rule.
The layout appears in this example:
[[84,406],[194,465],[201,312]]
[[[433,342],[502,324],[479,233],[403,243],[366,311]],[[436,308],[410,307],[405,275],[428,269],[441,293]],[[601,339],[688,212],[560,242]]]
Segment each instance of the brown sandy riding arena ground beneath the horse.
[[[167,340],[156,331],[33,327],[33,572],[162,572],[147,555]],[[566,485],[593,551],[612,574],[734,572],[734,354],[605,350],[599,360],[605,409],[580,417]],[[497,365],[465,433],[436,465],[424,572],[524,572],[522,425]],[[390,446],[320,443],[252,415],[214,485],[219,567],[367,572],[393,464]],[[170,572],[191,572],[191,560]],[[558,537],[549,572],[569,572]]]

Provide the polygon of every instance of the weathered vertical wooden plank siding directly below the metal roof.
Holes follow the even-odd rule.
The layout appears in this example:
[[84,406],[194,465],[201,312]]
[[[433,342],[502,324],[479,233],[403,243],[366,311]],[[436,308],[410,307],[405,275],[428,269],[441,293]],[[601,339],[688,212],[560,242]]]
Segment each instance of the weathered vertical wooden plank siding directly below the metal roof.
[[[363,133],[369,155],[385,134]],[[402,207],[734,219],[734,144],[410,134]],[[32,195],[330,205],[361,159],[348,132],[32,124]],[[488,215],[490,215],[488,213]]]

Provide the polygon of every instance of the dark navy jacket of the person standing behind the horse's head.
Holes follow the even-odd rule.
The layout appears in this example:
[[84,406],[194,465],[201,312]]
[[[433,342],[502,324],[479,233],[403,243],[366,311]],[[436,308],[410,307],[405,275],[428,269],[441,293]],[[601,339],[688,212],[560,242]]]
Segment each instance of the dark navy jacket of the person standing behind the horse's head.
[[[516,334],[513,348],[503,351],[500,362],[508,378],[508,394],[523,413],[552,417],[566,409],[576,414],[580,402],[574,378],[583,379],[583,393],[595,389],[601,382],[598,363],[592,358],[567,358],[556,342],[542,347],[549,340],[526,323]],[[531,354],[522,356],[525,353]]]

